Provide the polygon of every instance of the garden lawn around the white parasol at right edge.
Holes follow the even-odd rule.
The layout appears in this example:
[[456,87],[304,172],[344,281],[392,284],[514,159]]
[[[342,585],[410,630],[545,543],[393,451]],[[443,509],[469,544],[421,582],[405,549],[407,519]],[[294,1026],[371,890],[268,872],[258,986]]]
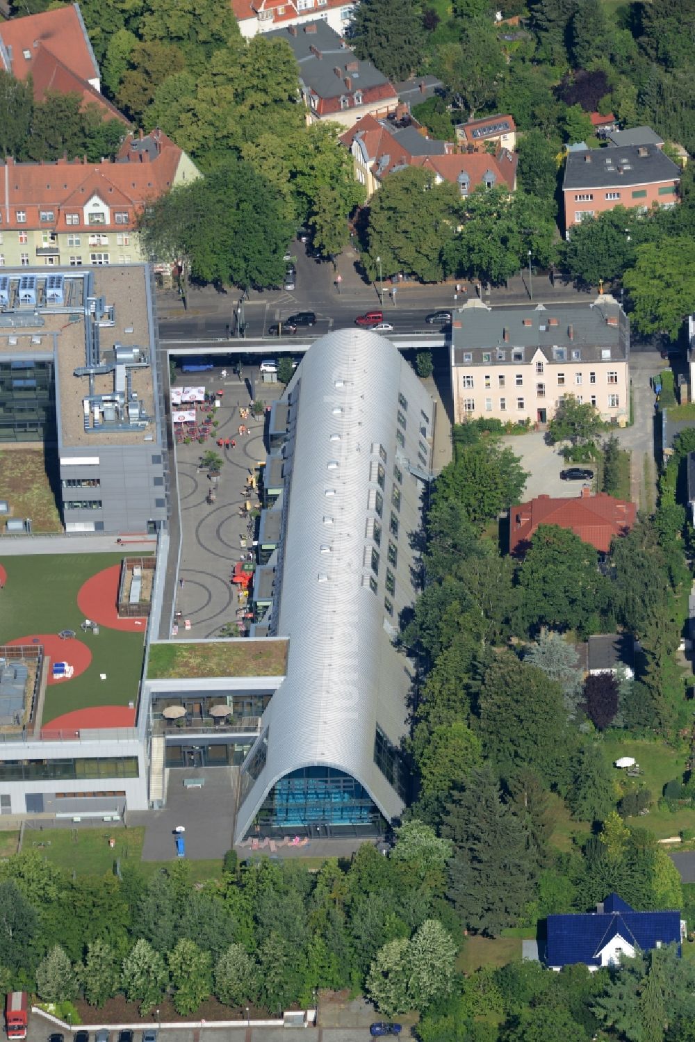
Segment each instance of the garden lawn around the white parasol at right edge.
[[[604,747],[612,762],[618,760],[619,756],[635,756],[644,771],[644,774],[640,774],[639,779],[635,780],[644,784],[651,792],[652,802],[649,814],[644,817],[627,818],[628,825],[648,828],[656,839],[667,839],[669,836],[676,836],[681,828],[695,826],[695,811],[685,809],[672,814],[656,805],[666,783],[682,774],[687,758],[685,749],[676,750],[665,743],[637,740],[609,741],[604,743]],[[619,774],[617,768],[615,773]],[[621,771],[620,774],[622,773]]]

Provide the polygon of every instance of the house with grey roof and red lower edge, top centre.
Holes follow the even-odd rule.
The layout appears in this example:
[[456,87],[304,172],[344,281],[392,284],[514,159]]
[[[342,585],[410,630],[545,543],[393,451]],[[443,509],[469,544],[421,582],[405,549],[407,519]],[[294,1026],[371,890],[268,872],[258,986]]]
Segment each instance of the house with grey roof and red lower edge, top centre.
[[290,25],[269,35],[286,40],[297,58],[307,123],[331,120],[351,126],[361,116],[386,116],[398,105],[387,77],[371,61],[357,58],[326,22]]

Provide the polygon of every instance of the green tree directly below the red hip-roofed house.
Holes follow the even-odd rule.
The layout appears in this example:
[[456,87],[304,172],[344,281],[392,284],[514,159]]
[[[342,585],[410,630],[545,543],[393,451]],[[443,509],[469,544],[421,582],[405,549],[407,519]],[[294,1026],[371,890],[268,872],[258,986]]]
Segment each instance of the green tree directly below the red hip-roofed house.
[[[521,611],[529,629],[553,626],[596,632],[609,584],[593,546],[559,525],[539,525],[518,573]],[[600,630],[599,630],[600,631]]]

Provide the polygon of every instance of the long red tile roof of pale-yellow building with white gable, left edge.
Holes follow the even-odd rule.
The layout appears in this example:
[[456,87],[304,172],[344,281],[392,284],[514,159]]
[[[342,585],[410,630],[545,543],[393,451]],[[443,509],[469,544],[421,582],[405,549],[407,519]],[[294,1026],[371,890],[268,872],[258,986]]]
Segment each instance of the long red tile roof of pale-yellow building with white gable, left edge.
[[[106,228],[126,230],[134,226],[135,215],[151,199],[157,199],[172,187],[182,152],[162,131],[154,131],[142,142],[128,134],[114,163],[81,163],[60,159],[57,163],[0,164],[0,227],[18,231],[49,227],[41,222],[41,210],[53,210],[50,227],[57,230],[84,230],[83,207],[98,195],[110,208],[109,225],[90,225],[90,230]],[[126,224],[116,225],[115,207],[127,209]],[[25,221],[17,220],[24,212]],[[66,214],[78,214],[79,223],[71,224]]]

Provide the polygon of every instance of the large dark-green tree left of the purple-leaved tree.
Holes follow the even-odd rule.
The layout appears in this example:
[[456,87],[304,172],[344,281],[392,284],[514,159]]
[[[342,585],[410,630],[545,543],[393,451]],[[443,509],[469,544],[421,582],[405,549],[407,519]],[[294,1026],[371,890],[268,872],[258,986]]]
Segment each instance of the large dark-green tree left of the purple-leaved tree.
[[567,737],[555,680],[510,651],[496,654],[482,675],[478,713],[482,747],[502,777],[530,767],[546,785],[557,780]]

